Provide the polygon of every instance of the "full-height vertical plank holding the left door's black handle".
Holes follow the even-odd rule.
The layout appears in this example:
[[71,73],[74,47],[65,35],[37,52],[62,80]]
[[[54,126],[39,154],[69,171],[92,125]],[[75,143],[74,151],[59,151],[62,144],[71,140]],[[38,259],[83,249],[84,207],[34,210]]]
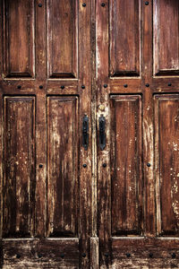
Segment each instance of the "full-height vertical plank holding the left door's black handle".
[[[80,267],[90,268],[91,233],[91,1],[79,2],[79,93],[80,93]],[[84,85],[85,89],[81,86]],[[89,117],[89,147],[82,147],[82,118]],[[86,164],[87,166],[83,166]]]

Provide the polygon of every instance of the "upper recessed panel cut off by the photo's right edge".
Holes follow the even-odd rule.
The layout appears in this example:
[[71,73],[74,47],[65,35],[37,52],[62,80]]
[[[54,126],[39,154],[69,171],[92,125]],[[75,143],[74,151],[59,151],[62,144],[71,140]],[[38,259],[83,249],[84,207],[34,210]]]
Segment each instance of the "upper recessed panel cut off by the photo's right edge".
[[179,74],[179,2],[154,1],[154,74]]

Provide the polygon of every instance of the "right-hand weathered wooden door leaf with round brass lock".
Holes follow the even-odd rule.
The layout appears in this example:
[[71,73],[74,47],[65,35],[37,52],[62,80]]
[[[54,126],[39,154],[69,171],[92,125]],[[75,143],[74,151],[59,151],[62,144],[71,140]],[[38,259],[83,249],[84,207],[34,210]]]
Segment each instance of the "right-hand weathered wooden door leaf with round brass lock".
[[178,19],[177,0],[96,1],[100,268],[179,268]]

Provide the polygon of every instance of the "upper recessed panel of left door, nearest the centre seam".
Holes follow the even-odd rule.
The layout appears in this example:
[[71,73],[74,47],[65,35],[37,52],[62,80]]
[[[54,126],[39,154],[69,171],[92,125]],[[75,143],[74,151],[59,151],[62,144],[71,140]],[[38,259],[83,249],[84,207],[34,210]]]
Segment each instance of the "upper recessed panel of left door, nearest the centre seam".
[[47,66],[50,78],[77,76],[77,1],[47,1]]

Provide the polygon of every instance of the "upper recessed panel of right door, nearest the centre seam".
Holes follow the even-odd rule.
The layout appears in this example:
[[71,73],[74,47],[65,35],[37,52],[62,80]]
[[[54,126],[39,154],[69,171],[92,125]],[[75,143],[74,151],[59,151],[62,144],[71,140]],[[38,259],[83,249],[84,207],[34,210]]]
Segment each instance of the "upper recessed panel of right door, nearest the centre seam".
[[139,0],[111,0],[110,8],[110,75],[140,75]]

